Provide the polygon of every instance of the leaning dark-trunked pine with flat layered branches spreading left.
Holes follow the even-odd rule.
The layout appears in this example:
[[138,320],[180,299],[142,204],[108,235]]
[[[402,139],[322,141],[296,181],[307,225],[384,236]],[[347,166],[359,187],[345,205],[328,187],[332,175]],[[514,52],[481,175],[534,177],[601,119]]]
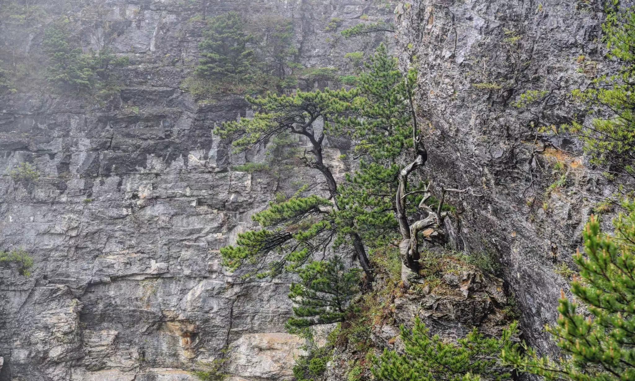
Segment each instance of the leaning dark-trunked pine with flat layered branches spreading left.
[[[239,234],[235,246],[221,249],[225,265],[237,269],[243,264],[257,265],[260,276],[276,276],[283,271],[296,271],[310,262],[316,253],[328,248],[342,228],[334,211],[338,204],[338,185],[330,167],[324,162],[323,142],[327,130],[318,128],[316,121],[327,121],[336,114],[350,109],[356,90],[297,91],[293,95],[269,94],[266,97],[246,99],[255,106],[253,118],[242,118],[222,124],[215,130],[222,138],[231,138],[237,151],[267,142],[281,133],[302,135],[309,140],[302,161],[305,166],[322,175],[326,198],[315,194],[291,197],[283,203],[254,215],[262,227],[260,231]],[[302,193],[302,192],[301,192]],[[348,232],[354,255],[366,275],[372,271],[364,244],[356,232]],[[270,261],[271,253],[277,259]],[[267,266],[268,269],[264,269]]]

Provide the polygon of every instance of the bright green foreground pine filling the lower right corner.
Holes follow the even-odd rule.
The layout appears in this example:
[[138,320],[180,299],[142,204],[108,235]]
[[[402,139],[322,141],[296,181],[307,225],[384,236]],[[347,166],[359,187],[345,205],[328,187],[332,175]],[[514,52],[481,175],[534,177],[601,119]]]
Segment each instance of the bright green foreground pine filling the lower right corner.
[[523,345],[524,354],[502,352],[507,363],[545,380],[635,380],[635,203],[624,208],[627,213],[613,220],[613,235],[601,232],[594,217],[584,229],[585,255],[573,257],[580,267],[571,287],[577,302],[563,293],[558,322],[547,326],[565,357],[540,357]]

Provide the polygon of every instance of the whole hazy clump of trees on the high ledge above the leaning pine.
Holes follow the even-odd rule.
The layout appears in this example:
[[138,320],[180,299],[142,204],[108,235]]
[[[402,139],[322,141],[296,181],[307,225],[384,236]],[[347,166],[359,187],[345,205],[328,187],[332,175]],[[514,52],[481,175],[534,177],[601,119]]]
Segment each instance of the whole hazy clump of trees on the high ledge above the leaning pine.
[[206,21],[199,44],[203,57],[181,87],[196,97],[219,93],[281,91],[297,85],[293,62],[293,23],[276,16],[260,16],[245,22],[236,12]]

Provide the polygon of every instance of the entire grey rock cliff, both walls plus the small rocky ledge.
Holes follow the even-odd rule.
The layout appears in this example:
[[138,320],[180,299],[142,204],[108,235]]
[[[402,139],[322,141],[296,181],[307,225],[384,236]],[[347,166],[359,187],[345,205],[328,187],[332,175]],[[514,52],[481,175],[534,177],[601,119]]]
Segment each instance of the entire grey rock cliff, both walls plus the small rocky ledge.
[[[503,279],[467,268],[445,274],[436,290],[394,297],[394,321],[373,328],[373,341],[392,345],[396,325],[415,315],[448,337],[472,325],[495,333],[514,295],[525,338],[552,350],[542,326],[556,318],[559,290],[568,286],[554,270],[570,261],[603,187],[579,145],[538,128],[577,112],[566,95],[605,70],[599,2],[30,3],[46,16],[28,29],[0,23],[3,54],[37,57],[46,23],[66,15],[81,30],[80,15],[99,4],[118,30],[112,50],[131,65],[106,105],[37,89],[0,97],[0,250],[22,247],[35,260],[29,277],[0,264],[0,381],[196,380],[189,371],[213,368],[227,348],[232,381],[291,378],[302,342],[284,333],[290,279],[241,281],[223,271],[218,249],[276,192],[293,192],[314,174],[233,170],[264,159],[262,147],[231,154],[211,133],[215,123],[246,115],[244,100],[198,104],[179,88],[201,40],[203,24],[192,17],[232,10],[251,20],[290,18],[299,62],[343,70],[345,53],[370,51],[384,36],[344,41],[338,30],[363,15],[396,18],[401,64],[419,71],[424,173],[436,189],[483,195],[448,195],[458,218],[446,227],[456,248],[497,257]],[[328,26],[333,19],[341,19],[337,30]],[[102,31],[93,32],[74,36],[95,48]],[[328,151],[335,172],[344,166],[340,153]],[[23,162],[41,173],[35,184],[11,178]],[[337,349],[330,380],[347,377],[357,355]]]

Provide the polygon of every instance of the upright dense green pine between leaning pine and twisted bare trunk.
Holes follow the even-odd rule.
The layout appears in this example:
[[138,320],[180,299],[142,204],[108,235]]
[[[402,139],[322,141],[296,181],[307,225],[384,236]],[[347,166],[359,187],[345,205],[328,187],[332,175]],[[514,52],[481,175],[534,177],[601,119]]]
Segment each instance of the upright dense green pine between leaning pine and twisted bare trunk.
[[[408,91],[416,73],[406,81],[395,57],[381,44],[359,76],[359,97],[352,115],[336,117],[328,125],[333,133],[349,135],[361,156],[359,170],[347,174],[339,189],[338,217],[359,232],[367,244],[381,245],[397,235],[394,194],[399,186],[398,158],[412,146],[412,114]],[[416,187],[415,187],[416,189]],[[415,201],[416,196],[408,197]]]

